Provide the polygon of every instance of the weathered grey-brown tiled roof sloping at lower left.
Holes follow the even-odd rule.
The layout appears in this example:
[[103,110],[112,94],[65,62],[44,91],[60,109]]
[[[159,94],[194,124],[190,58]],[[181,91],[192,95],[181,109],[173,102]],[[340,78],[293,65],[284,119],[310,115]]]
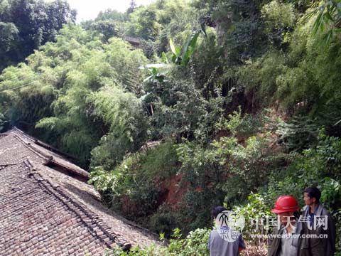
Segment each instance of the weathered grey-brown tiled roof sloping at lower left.
[[102,204],[87,171],[37,142],[18,129],[0,136],[0,255],[103,255],[156,242]]

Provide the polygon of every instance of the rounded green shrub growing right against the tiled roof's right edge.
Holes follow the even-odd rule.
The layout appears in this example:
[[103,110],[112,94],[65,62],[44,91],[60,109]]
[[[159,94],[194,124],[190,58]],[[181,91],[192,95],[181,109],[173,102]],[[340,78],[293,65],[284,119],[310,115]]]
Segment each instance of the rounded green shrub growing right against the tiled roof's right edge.
[[151,149],[127,155],[112,171],[96,166],[92,169],[90,183],[112,208],[127,218],[162,230],[153,225],[156,215],[150,221],[148,218],[161,203],[161,188],[156,181],[161,182],[177,171],[178,156],[175,150],[174,143],[169,140]]

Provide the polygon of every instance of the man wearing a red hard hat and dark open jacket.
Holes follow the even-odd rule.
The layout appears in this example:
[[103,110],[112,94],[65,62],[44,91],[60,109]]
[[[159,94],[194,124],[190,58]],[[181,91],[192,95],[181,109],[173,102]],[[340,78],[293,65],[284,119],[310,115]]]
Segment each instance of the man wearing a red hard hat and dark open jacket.
[[280,226],[274,228],[274,232],[269,237],[269,256],[297,256],[299,255],[298,238],[298,202],[293,196],[280,196],[275,208],[271,211],[278,215]]

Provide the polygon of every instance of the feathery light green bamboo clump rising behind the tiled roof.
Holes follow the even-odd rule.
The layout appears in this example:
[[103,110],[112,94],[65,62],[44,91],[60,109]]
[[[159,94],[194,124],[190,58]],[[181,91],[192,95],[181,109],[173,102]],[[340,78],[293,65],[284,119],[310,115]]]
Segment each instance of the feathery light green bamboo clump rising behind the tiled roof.
[[[104,44],[69,25],[56,43],[28,57],[27,65],[4,70],[0,97],[10,105],[6,114],[14,124],[45,131],[47,142],[77,156],[82,166],[97,144],[96,156],[107,146],[115,150],[97,163],[114,165],[144,141],[141,100],[133,92],[140,90],[139,66],[145,62],[140,50],[131,51],[119,38]],[[113,146],[113,140],[121,146]]]

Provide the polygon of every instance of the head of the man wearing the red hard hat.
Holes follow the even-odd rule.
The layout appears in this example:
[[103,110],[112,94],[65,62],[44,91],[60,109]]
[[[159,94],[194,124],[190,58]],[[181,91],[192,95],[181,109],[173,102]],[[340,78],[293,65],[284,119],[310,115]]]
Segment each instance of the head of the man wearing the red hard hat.
[[277,198],[275,208],[271,211],[278,215],[281,224],[286,225],[288,220],[296,218],[298,202],[293,196],[280,196]]

